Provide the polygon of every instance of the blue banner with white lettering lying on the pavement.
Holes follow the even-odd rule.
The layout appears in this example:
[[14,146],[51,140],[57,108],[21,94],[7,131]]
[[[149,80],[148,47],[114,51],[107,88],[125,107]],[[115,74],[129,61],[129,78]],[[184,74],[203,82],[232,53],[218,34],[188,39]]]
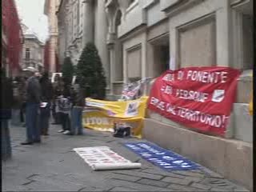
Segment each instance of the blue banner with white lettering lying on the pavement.
[[200,168],[198,164],[181,155],[149,142],[126,142],[124,145],[163,170],[198,170]]

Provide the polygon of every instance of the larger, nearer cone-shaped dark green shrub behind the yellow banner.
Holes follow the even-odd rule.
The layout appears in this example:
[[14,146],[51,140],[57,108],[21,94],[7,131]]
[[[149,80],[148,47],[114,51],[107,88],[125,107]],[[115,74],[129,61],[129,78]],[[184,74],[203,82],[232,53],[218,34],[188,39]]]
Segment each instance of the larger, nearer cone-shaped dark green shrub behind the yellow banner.
[[82,50],[77,66],[77,78],[79,86],[86,90],[86,97],[105,98],[106,77],[94,43],[87,43]]

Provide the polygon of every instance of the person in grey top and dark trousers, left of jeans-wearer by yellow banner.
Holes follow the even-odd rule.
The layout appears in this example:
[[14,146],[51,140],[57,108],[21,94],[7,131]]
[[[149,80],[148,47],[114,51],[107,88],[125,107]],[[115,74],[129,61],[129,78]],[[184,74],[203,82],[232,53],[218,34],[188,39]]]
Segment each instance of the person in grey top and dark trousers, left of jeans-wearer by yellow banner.
[[62,95],[58,100],[58,107],[60,112],[60,119],[62,123],[62,130],[59,130],[59,133],[70,134],[70,110],[72,103],[70,101],[70,90],[65,88]]

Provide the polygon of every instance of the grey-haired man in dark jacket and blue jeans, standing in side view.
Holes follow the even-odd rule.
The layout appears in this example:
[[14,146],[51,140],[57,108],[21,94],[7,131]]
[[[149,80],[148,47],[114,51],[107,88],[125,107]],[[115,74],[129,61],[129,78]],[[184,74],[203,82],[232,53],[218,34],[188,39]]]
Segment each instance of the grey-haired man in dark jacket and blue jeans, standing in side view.
[[32,145],[41,142],[40,128],[38,126],[41,87],[38,81],[38,72],[34,67],[28,67],[30,78],[26,87],[26,142],[22,145]]

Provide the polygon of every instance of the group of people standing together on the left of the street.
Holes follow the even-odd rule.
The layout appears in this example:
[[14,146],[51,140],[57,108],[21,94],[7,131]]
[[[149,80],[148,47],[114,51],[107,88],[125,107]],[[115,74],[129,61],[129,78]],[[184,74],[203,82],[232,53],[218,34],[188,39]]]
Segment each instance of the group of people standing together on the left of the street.
[[[33,145],[41,142],[41,135],[49,135],[50,114],[53,124],[62,125],[63,134],[83,134],[82,110],[85,106],[85,90],[64,83],[57,76],[52,83],[45,71],[40,74],[33,67],[26,70],[27,78],[15,78],[12,82],[6,78],[3,70],[2,77],[2,155],[11,155],[8,120],[13,108],[20,110],[20,121],[26,126],[26,141],[22,145]],[[13,89],[12,89],[13,88]],[[50,113],[52,112],[52,113]]]

